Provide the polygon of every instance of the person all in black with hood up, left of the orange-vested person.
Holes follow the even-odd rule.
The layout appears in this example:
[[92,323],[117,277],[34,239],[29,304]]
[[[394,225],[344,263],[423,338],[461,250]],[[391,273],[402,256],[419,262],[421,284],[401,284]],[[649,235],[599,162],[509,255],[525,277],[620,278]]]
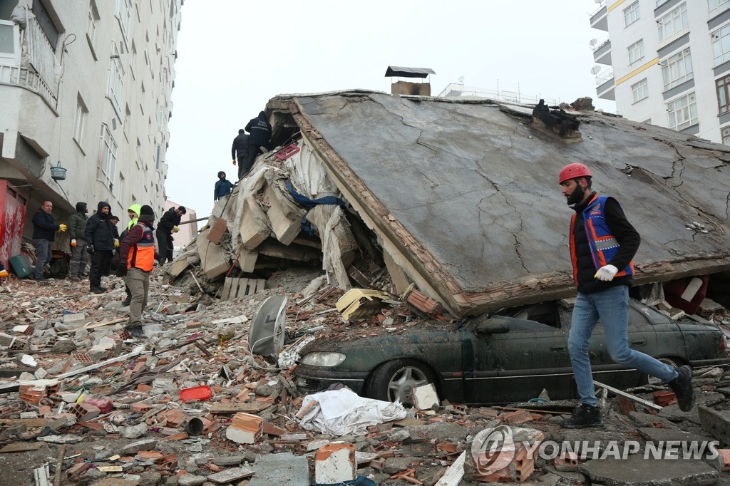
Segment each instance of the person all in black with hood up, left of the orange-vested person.
[[114,229],[110,221],[112,207],[106,201],[99,202],[96,213],[86,222],[84,231],[86,250],[91,255],[89,270],[89,290],[93,293],[104,293],[107,288],[101,287],[101,277],[109,274],[114,250]]

